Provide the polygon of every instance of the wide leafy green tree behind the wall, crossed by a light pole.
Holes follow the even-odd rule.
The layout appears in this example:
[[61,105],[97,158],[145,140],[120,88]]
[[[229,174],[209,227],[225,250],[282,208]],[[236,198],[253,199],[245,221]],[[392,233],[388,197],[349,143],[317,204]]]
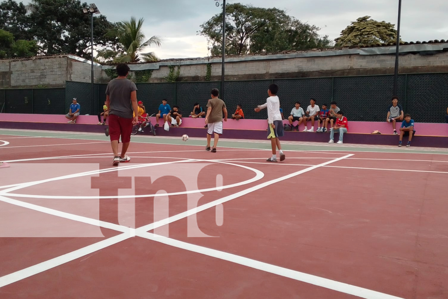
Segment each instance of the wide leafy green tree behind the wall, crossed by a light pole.
[[[222,13],[203,23],[212,56],[222,52]],[[246,54],[328,47],[328,37],[319,37],[320,28],[290,17],[284,10],[259,8],[241,3],[226,6],[226,53]]]

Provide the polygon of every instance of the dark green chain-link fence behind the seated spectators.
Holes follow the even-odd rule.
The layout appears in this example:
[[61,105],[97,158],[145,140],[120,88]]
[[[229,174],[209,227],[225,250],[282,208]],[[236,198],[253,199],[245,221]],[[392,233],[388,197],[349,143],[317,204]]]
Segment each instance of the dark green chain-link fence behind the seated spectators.
[[[448,105],[448,73],[401,74],[398,76],[399,104],[405,113],[419,122],[443,122]],[[280,103],[287,117],[299,101],[302,108],[314,98],[317,104],[329,105],[336,101],[352,121],[383,121],[391,103],[393,75],[269,79],[225,82],[224,101],[228,113],[241,104],[245,117],[265,119],[266,111],[255,113],[254,107],[267,98],[269,84],[280,87]],[[81,114],[96,115],[102,111],[106,100],[107,84],[95,84],[94,100],[91,100],[90,83],[66,82],[65,88],[4,89],[0,90],[2,113],[63,114],[77,98]],[[220,88],[220,82],[166,82],[137,83],[137,98],[143,101],[147,113],[156,113],[163,99],[171,106],[179,106],[184,117],[190,114],[198,102],[205,108],[212,88]]]

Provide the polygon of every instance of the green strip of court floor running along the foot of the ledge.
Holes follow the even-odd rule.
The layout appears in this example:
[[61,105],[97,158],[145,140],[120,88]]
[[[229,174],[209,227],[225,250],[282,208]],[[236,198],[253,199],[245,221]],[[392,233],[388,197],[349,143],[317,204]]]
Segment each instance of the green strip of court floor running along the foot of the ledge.
[[[17,137],[50,137],[50,138],[60,138],[60,139],[79,139],[79,140],[98,140],[98,141],[108,141],[110,140],[104,134],[83,134],[83,133],[67,133],[67,132],[49,132],[49,131],[34,131],[34,130],[0,130],[0,135],[11,135]],[[1,137],[0,137],[1,140]],[[11,139],[7,139],[10,142]],[[188,141],[182,141],[179,138],[166,138],[158,136],[132,136],[131,143],[149,143],[149,144],[166,144],[166,145],[190,145],[190,146],[203,146],[205,147],[206,141],[204,139],[190,138]],[[211,141],[213,144],[213,140]],[[280,140],[281,142],[281,140]],[[246,149],[261,149],[270,150],[271,143],[269,140],[226,140],[220,139],[218,147],[229,147],[229,148],[246,148]],[[1,148],[1,147],[0,147]],[[150,148],[149,148],[150,149]],[[448,150],[443,151],[440,148],[437,149],[421,149],[421,148],[406,148],[406,147],[387,147],[387,146],[369,146],[369,145],[357,145],[357,146],[340,146],[340,145],[330,145],[328,143],[323,143],[322,145],[313,144],[303,144],[301,142],[284,142],[282,144],[282,149],[285,151],[341,151],[341,152],[409,152],[409,153],[426,153],[426,154],[444,154],[448,155]],[[167,148],[167,150],[170,150]]]

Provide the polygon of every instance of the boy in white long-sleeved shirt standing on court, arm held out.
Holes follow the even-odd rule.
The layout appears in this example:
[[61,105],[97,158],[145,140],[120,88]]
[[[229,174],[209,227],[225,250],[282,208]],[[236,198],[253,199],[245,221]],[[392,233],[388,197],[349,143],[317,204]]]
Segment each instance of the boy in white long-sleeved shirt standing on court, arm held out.
[[283,122],[280,114],[280,100],[277,96],[277,92],[279,87],[277,84],[269,85],[269,89],[267,90],[267,94],[269,97],[266,99],[266,103],[263,105],[258,105],[255,108],[255,112],[260,112],[261,109],[267,108],[267,121],[268,121],[268,130],[267,130],[267,139],[271,139],[272,146],[272,157],[267,158],[267,162],[277,162],[276,157],[276,148],[278,147],[280,151],[280,161],[285,159],[285,155],[281,149],[281,144],[279,137],[284,135],[283,132]]

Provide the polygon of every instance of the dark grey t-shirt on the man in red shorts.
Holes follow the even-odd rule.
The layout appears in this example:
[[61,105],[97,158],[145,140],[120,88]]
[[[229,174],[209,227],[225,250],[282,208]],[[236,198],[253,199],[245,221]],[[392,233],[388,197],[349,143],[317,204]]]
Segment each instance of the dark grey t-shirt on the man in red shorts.
[[131,103],[131,92],[136,91],[137,86],[129,79],[112,79],[106,88],[106,95],[109,95],[109,114],[123,118],[132,118],[134,108]]

